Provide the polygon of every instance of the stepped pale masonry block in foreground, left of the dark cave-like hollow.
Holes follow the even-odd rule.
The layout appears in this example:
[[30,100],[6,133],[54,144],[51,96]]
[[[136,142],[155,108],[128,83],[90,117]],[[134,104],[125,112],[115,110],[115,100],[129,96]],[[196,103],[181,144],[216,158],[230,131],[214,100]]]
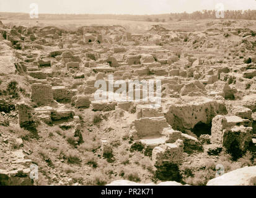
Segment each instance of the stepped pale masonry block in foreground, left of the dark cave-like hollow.
[[152,105],[137,105],[138,119],[133,121],[130,128],[130,137],[135,142],[130,150],[138,150],[152,157],[157,178],[180,181],[179,165],[183,152],[200,152],[203,146],[195,137],[172,129],[161,110],[161,107]]

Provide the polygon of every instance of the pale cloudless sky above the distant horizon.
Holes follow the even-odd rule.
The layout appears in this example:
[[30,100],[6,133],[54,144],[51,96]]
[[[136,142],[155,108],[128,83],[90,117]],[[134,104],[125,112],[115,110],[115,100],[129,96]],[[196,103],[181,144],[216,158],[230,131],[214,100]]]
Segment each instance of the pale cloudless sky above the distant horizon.
[[0,12],[30,13],[38,4],[39,14],[167,14],[214,10],[256,9],[256,0],[0,0]]

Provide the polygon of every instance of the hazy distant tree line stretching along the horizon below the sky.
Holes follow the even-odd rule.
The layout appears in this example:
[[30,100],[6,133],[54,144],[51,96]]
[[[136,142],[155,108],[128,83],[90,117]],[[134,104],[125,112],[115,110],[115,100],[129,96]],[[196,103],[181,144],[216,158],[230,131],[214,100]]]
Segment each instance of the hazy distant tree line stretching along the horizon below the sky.
[[[27,13],[0,12],[1,19],[29,19]],[[170,20],[198,20],[216,19],[216,11],[196,11],[193,13],[170,13],[156,15],[132,15],[132,14],[40,14],[40,20],[68,20],[68,19],[118,19],[140,20],[148,22],[166,22]],[[256,20],[256,10],[224,11],[224,19]]]

